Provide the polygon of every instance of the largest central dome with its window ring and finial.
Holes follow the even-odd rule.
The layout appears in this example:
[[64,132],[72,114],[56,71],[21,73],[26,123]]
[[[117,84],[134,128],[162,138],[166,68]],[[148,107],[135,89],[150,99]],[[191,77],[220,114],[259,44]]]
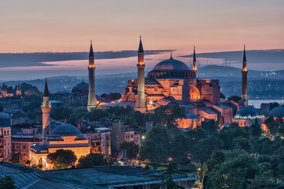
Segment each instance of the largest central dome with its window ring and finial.
[[174,78],[195,78],[196,73],[191,71],[188,66],[170,57],[168,60],[159,62],[152,71],[147,74],[147,77],[174,77]]

